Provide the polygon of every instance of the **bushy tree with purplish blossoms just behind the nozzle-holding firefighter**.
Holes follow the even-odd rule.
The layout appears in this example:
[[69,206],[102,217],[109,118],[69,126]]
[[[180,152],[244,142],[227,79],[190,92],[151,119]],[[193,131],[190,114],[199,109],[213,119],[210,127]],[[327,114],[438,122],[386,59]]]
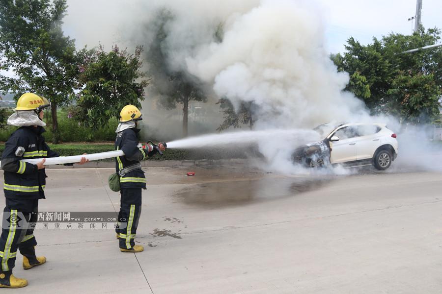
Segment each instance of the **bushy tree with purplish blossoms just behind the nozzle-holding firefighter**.
[[111,117],[117,117],[127,104],[141,108],[144,100],[144,88],[147,79],[140,71],[139,60],[142,47],[138,46],[134,54],[116,45],[110,52],[99,49],[91,54],[83,51],[85,63],[80,67],[81,82],[85,84],[80,92],[77,111],[74,118],[93,129],[107,125]]

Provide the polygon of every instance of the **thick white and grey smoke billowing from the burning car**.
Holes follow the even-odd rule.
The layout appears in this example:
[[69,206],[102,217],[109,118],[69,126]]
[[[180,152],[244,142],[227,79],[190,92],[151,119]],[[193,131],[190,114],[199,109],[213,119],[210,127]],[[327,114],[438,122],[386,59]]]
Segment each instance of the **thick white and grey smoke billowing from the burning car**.
[[[69,5],[82,1],[75,2]],[[100,5],[92,3],[88,5]],[[107,21],[102,23],[94,15],[94,22],[103,26],[100,36],[118,32],[114,40],[122,42],[120,47],[144,45],[145,70],[153,79],[142,112],[150,135],[159,139],[177,138],[181,132],[181,107],[171,112],[157,103],[175,87],[170,74],[179,74],[181,82],[208,98],[201,104],[205,113],[199,116],[205,119],[190,118],[191,134],[215,131],[222,121],[219,98],[228,98],[236,109],[243,101],[253,103],[254,128],[260,131],[256,138],[265,132],[275,134],[273,140],[257,140],[259,149],[278,171],[292,169],[291,150],[318,139],[303,130],[321,123],[375,121],[399,129],[394,118],[371,117],[362,101],[343,91],[349,75],[338,73],[330,60],[322,11],[310,1],[134,0],[102,5],[108,7],[103,11],[112,10],[108,15],[118,16],[109,22],[103,12]],[[91,35],[87,31],[88,39]],[[102,39],[97,34],[95,40]],[[290,140],[276,136],[283,130],[288,130]]]

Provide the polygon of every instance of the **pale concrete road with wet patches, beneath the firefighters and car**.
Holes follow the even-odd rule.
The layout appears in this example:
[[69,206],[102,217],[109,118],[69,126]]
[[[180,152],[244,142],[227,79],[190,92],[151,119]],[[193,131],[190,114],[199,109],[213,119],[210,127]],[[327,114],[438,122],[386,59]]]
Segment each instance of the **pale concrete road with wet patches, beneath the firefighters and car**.
[[[117,211],[112,169],[48,170],[40,211]],[[18,293],[441,293],[442,173],[148,168],[137,231],[36,230]],[[195,176],[186,176],[195,172]],[[1,177],[2,178],[2,177]]]

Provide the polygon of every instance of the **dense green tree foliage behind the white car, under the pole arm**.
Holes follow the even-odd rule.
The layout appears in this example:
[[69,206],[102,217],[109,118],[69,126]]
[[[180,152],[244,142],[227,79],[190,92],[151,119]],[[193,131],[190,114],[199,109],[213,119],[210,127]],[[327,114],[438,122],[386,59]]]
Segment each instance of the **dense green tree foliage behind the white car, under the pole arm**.
[[[373,114],[390,113],[405,121],[437,117],[442,89],[442,48],[404,53],[438,43],[441,31],[420,28],[412,35],[390,33],[372,44],[350,38],[343,55],[331,55],[339,71],[350,73],[347,90],[365,101]],[[364,90],[364,87],[368,86]]]

